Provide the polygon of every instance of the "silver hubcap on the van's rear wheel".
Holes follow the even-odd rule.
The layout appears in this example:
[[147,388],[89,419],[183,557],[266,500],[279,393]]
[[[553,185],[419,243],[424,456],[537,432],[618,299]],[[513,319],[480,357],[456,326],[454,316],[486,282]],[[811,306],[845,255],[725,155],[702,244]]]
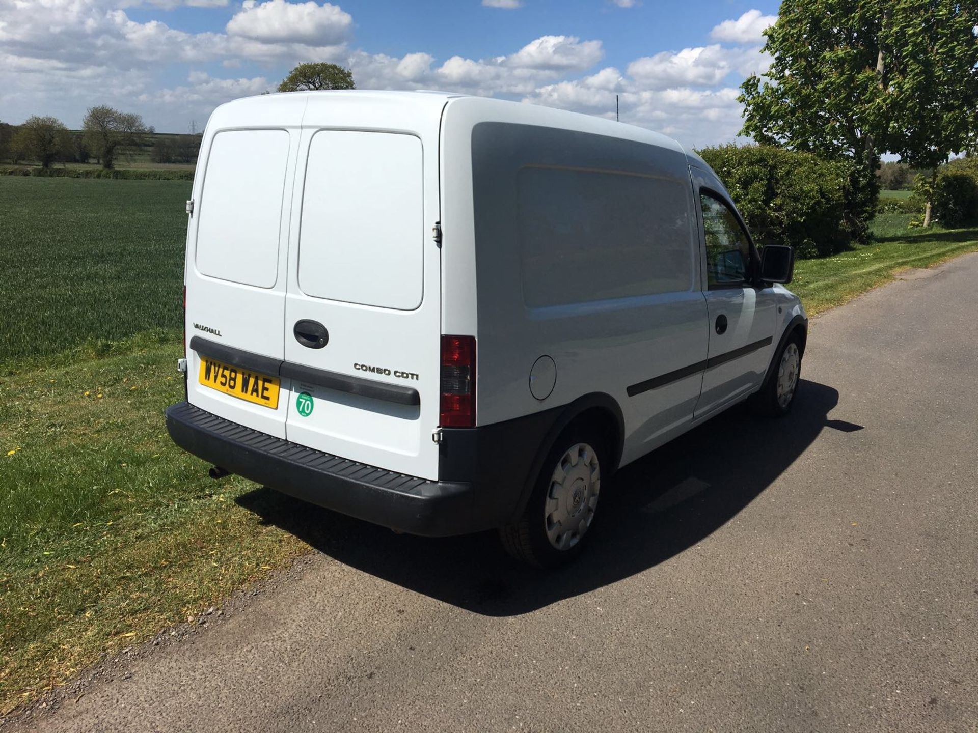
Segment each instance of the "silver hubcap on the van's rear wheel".
[[557,461],[544,507],[547,539],[558,550],[577,544],[591,526],[601,490],[598,453],[578,443]]

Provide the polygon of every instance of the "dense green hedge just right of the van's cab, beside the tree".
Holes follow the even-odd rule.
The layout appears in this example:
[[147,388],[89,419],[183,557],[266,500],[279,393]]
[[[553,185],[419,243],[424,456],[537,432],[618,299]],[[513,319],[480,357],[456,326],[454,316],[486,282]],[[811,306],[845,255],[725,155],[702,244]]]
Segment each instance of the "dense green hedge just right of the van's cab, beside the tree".
[[762,145],[697,152],[724,182],[758,245],[790,244],[797,257],[849,247],[849,163]]

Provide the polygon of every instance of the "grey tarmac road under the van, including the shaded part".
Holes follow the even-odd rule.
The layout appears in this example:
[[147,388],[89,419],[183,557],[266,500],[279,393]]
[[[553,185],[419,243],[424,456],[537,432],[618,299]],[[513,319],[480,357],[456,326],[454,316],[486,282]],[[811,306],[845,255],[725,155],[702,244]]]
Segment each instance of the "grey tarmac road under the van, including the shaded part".
[[629,466],[556,575],[256,490],[319,553],[13,727],[974,733],[976,283],[972,254],[813,322],[788,418]]

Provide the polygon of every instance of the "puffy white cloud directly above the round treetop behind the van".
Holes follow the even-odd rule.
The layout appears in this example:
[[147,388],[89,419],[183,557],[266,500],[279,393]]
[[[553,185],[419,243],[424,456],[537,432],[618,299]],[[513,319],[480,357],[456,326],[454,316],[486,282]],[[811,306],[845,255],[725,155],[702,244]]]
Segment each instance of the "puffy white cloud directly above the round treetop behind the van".
[[228,22],[227,31],[263,43],[335,46],[346,40],[352,25],[350,14],[331,3],[267,0],[259,4],[244,0],[241,12]]

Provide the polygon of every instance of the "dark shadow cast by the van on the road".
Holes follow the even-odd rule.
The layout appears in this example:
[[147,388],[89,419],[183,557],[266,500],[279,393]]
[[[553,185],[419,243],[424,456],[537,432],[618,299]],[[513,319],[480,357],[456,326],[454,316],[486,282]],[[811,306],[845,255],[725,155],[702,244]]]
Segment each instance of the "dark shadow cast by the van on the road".
[[771,486],[822,429],[862,429],[829,420],[837,404],[836,390],[802,380],[788,417],[733,408],[631,463],[602,492],[587,551],[553,573],[512,560],[495,533],[395,535],[266,488],[238,503],[378,578],[474,613],[512,616],[641,573],[708,537]]

